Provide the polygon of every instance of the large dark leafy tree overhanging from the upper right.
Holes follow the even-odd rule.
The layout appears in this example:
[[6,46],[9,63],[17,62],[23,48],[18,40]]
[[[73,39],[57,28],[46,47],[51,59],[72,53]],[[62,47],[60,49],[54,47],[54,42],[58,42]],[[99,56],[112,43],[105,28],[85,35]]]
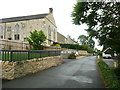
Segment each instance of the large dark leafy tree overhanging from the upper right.
[[120,54],[120,2],[77,2],[72,12],[73,23],[86,23],[90,37]]

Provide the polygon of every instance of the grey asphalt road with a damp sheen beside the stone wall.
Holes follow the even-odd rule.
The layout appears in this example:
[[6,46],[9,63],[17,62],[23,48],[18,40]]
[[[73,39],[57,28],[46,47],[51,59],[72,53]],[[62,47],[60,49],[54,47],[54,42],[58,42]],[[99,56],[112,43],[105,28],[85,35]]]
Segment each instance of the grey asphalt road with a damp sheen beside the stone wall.
[[96,65],[96,57],[64,59],[64,64],[12,81],[3,88],[104,88]]

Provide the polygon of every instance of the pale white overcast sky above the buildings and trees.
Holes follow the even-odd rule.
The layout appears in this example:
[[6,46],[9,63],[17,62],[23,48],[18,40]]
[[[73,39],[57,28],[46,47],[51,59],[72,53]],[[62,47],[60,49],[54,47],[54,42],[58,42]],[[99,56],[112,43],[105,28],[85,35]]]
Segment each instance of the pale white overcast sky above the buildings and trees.
[[[77,41],[79,35],[87,35],[87,25],[72,23],[71,13],[76,2],[77,0],[1,0],[0,19],[49,13],[49,8],[53,8],[57,31],[66,37],[70,35]],[[101,50],[102,47],[98,46],[97,40],[95,42],[95,47]]]

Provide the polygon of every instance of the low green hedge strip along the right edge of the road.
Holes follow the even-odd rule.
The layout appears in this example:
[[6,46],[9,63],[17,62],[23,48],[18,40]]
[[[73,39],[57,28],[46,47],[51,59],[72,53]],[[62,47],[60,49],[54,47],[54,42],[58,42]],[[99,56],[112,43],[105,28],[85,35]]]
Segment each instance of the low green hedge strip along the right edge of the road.
[[99,61],[98,66],[102,72],[102,76],[109,88],[118,88],[120,89],[120,84],[118,81],[117,76],[113,72],[111,68],[104,62],[104,61]]

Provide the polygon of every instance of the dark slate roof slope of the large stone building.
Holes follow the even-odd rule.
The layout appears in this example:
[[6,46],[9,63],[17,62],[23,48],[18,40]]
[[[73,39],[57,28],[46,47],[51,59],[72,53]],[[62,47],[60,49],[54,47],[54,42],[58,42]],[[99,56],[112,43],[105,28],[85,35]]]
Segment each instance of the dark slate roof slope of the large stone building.
[[12,17],[12,18],[2,18],[2,19],[0,19],[0,23],[16,22],[16,21],[24,21],[24,20],[32,20],[32,19],[41,19],[41,18],[45,18],[47,15],[48,14],[37,14],[37,15],[20,16],[20,17]]

